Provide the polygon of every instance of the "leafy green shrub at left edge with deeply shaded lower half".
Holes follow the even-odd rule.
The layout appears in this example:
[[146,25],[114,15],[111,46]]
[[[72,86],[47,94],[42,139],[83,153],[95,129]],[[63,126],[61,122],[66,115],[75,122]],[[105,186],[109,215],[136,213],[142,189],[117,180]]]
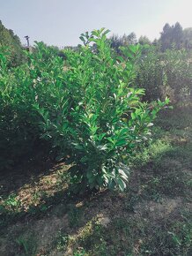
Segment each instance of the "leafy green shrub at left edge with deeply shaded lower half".
[[33,108],[37,74],[30,64],[9,68],[9,56],[9,49],[0,49],[0,169],[20,162],[40,145],[38,114]]

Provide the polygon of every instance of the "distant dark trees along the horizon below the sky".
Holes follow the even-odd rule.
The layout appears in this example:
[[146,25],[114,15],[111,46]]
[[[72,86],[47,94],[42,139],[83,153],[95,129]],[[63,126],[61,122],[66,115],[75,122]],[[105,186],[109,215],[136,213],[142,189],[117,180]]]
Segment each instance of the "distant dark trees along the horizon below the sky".
[[[137,35],[132,32],[130,34],[123,34],[119,36],[113,34],[108,38],[110,45],[119,53],[119,47],[129,44],[152,44],[157,46],[159,51],[166,51],[166,49],[192,49],[192,27],[183,29],[179,22],[176,22],[173,26],[168,23],[163,27],[163,31],[160,33],[159,39],[150,41],[146,36],[140,36],[137,39]],[[0,46],[9,47],[11,49],[10,65],[16,66],[22,64],[25,61],[25,55],[23,53],[24,46],[22,46],[18,35],[14,34],[11,29],[7,29],[0,20]],[[63,56],[63,50],[56,46],[49,46],[55,49],[58,56]],[[64,49],[78,49],[78,46],[65,46]],[[33,49],[33,48],[32,48]]]

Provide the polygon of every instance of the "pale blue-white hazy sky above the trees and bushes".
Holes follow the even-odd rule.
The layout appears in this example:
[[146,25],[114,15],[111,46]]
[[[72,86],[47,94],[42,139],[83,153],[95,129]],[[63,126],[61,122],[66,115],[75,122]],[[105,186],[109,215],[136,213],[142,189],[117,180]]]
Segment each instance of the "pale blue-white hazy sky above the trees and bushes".
[[101,27],[153,41],[166,23],[192,27],[191,10],[192,0],[0,0],[0,20],[23,44],[29,35],[31,44],[59,47],[78,45],[81,33]]

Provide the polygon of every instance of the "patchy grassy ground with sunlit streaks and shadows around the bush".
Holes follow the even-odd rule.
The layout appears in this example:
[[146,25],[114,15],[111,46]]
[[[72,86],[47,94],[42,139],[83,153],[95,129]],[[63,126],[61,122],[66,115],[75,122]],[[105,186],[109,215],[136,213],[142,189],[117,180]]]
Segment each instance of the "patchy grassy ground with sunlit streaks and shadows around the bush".
[[192,109],[156,123],[123,193],[74,195],[64,163],[3,173],[0,255],[192,255]]

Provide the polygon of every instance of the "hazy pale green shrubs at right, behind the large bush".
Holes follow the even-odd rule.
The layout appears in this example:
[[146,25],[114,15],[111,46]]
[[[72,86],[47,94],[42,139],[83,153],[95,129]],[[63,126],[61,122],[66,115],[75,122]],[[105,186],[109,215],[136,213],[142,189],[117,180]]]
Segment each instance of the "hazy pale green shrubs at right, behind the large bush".
[[165,99],[172,103],[189,100],[192,89],[192,63],[185,49],[156,47],[144,49],[137,62],[136,85],[145,88],[144,100]]

